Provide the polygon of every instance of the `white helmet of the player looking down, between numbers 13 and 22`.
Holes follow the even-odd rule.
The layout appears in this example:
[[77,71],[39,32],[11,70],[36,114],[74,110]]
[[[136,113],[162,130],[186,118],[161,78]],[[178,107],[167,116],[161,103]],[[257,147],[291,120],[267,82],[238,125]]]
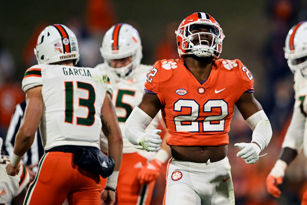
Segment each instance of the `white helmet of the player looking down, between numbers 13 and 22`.
[[[104,35],[100,52],[108,69],[115,72],[117,76],[128,79],[141,63],[142,44],[140,35],[129,24],[115,24]],[[128,65],[121,68],[111,66],[111,59],[122,59],[129,56],[132,56],[132,61]]]

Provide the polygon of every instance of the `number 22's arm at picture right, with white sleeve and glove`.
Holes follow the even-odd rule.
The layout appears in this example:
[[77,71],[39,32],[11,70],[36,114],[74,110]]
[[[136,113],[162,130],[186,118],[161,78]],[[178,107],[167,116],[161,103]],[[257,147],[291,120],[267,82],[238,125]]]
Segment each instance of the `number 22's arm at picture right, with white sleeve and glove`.
[[243,93],[236,106],[253,131],[251,143],[235,144],[236,148],[241,149],[237,156],[243,158],[247,164],[254,164],[259,159],[259,153],[266,148],[272,137],[270,121],[253,93]]

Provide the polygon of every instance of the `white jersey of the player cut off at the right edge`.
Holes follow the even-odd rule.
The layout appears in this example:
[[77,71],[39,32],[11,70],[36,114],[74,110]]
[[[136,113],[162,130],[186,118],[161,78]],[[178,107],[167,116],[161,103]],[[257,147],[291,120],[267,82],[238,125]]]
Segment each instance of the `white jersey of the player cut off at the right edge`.
[[307,78],[301,72],[294,73],[295,104],[290,126],[287,130],[282,148],[289,147],[297,152],[304,150],[307,156]]

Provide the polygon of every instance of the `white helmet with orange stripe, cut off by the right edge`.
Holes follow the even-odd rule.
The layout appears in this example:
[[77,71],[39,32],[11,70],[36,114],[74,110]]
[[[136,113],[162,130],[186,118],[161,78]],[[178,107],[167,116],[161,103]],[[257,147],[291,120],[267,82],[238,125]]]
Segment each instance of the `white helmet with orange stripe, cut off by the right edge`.
[[285,58],[292,72],[307,75],[307,21],[294,25],[286,37]]

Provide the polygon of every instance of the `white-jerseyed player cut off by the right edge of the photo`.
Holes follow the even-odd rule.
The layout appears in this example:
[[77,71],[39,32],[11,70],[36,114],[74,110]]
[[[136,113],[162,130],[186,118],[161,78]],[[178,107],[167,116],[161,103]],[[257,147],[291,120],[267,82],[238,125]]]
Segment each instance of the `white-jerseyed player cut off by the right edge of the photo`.
[[[307,156],[307,21],[294,25],[287,37],[285,58],[294,73],[295,104],[291,123],[288,127],[279,159],[266,178],[267,191],[278,198],[281,191],[277,187],[282,183],[286,168],[303,150]],[[305,191],[301,204],[307,204],[307,191]]]

